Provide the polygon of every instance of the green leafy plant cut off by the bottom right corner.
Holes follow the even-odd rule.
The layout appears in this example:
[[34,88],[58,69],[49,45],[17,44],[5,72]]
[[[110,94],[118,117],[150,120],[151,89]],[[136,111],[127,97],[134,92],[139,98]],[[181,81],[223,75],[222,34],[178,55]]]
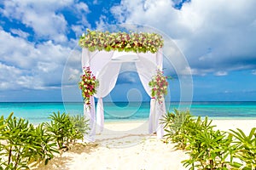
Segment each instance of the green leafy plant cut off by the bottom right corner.
[[242,163],[235,161],[231,165],[244,170],[256,169],[256,127],[252,128],[248,136],[239,128],[236,131],[232,129],[230,131],[235,138],[233,142],[235,150],[231,156],[242,161]]

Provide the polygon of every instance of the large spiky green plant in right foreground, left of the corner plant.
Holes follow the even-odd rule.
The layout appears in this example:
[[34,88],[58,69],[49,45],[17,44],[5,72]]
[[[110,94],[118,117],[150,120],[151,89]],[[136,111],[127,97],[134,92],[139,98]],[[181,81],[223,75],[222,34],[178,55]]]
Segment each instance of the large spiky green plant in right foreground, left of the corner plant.
[[226,169],[228,170],[230,156],[231,136],[212,128],[198,131],[195,136],[189,136],[189,160],[184,160],[183,165],[189,169]]

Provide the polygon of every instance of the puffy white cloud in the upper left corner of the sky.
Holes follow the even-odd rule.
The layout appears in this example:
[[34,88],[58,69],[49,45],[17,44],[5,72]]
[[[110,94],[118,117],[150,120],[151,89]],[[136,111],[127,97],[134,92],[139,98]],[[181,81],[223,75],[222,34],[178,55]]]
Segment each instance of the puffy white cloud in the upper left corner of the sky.
[[20,20],[32,27],[39,38],[55,42],[67,41],[67,21],[56,9],[72,4],[73,1],[5,1],[2,13],[10,20]]

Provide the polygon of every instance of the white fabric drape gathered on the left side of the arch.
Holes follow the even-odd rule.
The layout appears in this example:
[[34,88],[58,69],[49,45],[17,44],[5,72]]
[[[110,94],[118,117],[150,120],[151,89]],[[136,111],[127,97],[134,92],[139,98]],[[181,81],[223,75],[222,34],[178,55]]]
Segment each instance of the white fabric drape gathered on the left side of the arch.
[[[98,133],[101,133],[103,130],[104,106],[102,98],[107,96],[114,88],[117,77],[119,75],[121,63],[112,62],[113,54],[113,51],[90,52],[87,48],[83,48],[82,51],[82,67],[90,66],[90,70],[99,81],[99,87],[96,88],[95,94],[95,97],[98,98],[96,113],[95,105],[94,107],[91,107],[91,111],[89,109],[86,109],[90,111],[90,127],[92,127],[90,130],[90,136],[96,134],[96,125],[99,127],[97,128]],[[84,105],[84,107],[85,106],[86,105]],[[84,113],[88,115],[89,111],[85,111]],[[94,116],[91,116],[93,113]]]

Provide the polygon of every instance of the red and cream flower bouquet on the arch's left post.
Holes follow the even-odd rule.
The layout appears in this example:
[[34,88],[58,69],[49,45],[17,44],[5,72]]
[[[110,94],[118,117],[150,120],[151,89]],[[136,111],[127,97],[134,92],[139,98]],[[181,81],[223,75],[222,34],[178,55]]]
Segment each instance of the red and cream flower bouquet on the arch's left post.
[[96,94],[96,88],[99,86],[99,81],[90,71],[90,67],[84,67],[84,74],[80,77],[79,88],[82,90],[84,103],[90,106],[90,96]]

